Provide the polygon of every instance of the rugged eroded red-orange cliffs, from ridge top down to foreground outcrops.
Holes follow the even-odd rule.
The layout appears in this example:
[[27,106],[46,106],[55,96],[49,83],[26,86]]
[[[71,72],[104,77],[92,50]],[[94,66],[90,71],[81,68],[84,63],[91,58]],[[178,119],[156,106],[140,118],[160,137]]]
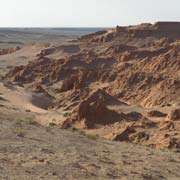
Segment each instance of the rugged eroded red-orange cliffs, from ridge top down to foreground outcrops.
[[[123,101],[129,106],[136,104],[143,108],[165,107],[167,110],[169,106],[179,104],[178,22],[117,26],[115,29],[83,36],[65,45],[45,49],[37,56],[28,65],[12,69],[4,79],[35,89],[36,86],[42,87],[40,89],[56,99],[49,106],[50,109],[65,109],[72,112],[66,124],[77,125],[79,120],[78,122],[84,123],[81,124],[84,128],[96,127],[94,124],[108,125],[108,128],[111,126],[116,132],[115,135],[109,136],[112,139],[121,139],[125,133],[126,139],[135,142],[137,137],[133,134],[137,135],[138,130],[135,127],[132,131],[128,130],[129,126],[132,126],[129,115],[109,109],[106,107],[109,106],[107,103],[102,103],[101,98],[98,99],[99,96],[91,102],[91,91],[101,89],[104,91],[100,93],[101,96],[107,93],[116,101]],[[127,109],[126,106],[123,105],[123,108]],[[171,109],[168,109],[167,113]],[[131,115],[135,117],[135,114]],[[143,115],[138,117],[135,119],[138,119],[139,123],[147,120]],[[119,130],[121,125],[117,123],[122,119],[128,123],[123,130]],[[173,124],[179,127],[178,122]],[[155,126],[154,123],[153,127]],[[169,131],[167,122],[163,121],[156,126],[157,136],[164,126]],[[141,128],[144,127],[141,124]],[[166,131],[163,131],[163,135],[158,138],[164,138],[166,145],[171,146],[172,139],[167,139],[169,136],[166,137],[165,134]],[[158,141],[153,142],[154,136],[151,138],[151,135],[143,133],[142,137],[142,141],[159,145]],[[173,142],[176,146],[180,145],[176,140]]]

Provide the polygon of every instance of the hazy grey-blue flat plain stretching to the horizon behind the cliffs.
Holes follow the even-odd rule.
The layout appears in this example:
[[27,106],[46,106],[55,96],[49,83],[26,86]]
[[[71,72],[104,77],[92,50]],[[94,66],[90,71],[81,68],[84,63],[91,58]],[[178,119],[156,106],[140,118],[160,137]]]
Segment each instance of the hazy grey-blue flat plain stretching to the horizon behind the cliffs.
[[103,28],[0,28],[0,48],[76,39]]

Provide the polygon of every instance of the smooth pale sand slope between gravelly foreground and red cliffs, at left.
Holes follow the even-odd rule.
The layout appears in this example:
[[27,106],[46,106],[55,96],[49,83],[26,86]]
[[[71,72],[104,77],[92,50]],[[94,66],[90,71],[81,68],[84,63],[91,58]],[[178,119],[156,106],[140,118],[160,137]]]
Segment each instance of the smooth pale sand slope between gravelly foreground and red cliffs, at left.
[[42,94],[34,94],[23,87],[16,85],[4,86],[0,83],[0,93],[3,101],[1,104],[8,109],[16,109],[17,111],[30,111],[35,114],[36,121],[42,125],[48,126],[50,122],[61,122],[64,117],[56,111],[48,111],[41,108],[42,105],[49,103],[49,99]]

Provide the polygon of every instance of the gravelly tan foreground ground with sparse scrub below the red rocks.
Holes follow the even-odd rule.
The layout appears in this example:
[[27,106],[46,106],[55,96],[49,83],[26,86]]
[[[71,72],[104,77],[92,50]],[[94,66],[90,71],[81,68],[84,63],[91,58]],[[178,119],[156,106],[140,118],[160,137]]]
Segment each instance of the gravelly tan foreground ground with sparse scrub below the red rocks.
[[0,179],[179,180],[179,153],[45,128],[30,117],[0,109]]

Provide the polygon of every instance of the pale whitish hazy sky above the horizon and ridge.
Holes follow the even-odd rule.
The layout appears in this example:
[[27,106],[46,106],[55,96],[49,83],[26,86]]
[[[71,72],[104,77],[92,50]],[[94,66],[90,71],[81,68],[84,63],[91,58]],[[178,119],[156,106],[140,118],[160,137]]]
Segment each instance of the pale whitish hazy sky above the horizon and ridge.
[[180,21],[180,0],[0,0],[0,27],[115,27]]

